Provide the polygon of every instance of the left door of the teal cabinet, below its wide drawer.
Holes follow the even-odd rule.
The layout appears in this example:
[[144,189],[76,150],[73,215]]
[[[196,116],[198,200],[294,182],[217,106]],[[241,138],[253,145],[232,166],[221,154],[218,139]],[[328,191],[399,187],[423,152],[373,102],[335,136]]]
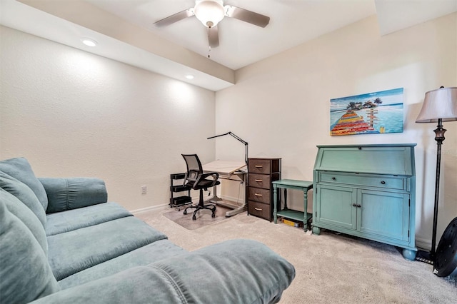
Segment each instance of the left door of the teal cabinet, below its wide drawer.
[[317,223],[326,223],[332,226],[356,229],[357,228],[357,190],[338,186],[317,186],[316,216]]

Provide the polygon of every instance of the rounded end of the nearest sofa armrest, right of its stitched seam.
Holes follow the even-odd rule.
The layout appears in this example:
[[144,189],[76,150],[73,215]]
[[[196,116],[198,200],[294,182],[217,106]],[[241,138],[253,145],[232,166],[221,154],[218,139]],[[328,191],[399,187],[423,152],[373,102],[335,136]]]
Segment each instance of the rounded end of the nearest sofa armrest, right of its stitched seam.
[[295,278],[291,263],[256,240],[227,240],[149,265],[183,303],[277,303]]

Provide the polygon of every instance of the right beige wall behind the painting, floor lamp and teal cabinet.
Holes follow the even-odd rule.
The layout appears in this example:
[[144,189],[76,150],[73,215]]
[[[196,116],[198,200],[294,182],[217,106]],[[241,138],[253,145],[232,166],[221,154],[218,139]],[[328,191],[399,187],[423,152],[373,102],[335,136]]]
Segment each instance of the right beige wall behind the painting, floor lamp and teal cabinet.
[[[216,93],[216,133],[236,133],[248,141],[250,157],[281,157],[283,178],[308,181],[316,145],[417,143],[416,241],[429,246],[436,126],[415,121],[426,91],[457,86],[456,24],[457,14],[451,14],[381,37],[372,16],[241,69],[236,86]],[[404,88],[403,133],[330,136],[331,98],[391,88]],[[438,240],[457,216],[457,121],[445,128]],[[216,141],[216,158],[243,155],[238,142]],[[236,184],[229,188],[238,191]],[[303,210],[300,193],[289,198],[293,208]]]

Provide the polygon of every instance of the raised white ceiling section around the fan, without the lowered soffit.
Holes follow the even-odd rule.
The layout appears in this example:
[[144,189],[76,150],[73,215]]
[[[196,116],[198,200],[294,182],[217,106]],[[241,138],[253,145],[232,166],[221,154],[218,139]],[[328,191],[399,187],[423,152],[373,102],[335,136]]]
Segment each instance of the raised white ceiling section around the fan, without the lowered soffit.
[[[208,56],[206,27],[195,16],[161,28],[153,24],[194,7],[194,0],[88,1],[201,56]],[[270,23],[265,28],[228,17],[219,23],[220,45],[211,50],[211,59],[233,70],[376,14],[374,1],[371,0],[224,2],[270,17]]]

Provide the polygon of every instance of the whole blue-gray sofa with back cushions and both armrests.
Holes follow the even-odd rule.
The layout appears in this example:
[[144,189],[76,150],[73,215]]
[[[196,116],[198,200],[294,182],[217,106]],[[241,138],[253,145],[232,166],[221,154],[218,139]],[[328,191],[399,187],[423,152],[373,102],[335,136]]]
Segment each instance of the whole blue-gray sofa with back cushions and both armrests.
[[277,303],[294,276],[254,240],[188,252],[107,202],[100,179],[0,161],[0,303]]

